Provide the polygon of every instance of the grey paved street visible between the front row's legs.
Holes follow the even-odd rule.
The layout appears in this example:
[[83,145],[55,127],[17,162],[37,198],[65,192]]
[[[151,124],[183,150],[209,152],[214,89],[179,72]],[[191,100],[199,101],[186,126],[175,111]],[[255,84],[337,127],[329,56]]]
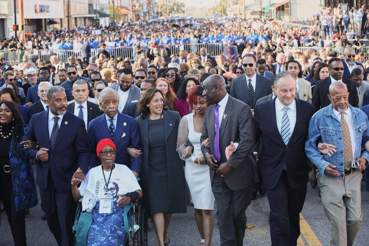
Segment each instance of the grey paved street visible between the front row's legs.
[[[311,188],[310,183],[308,185],[307,197],[301,213],[304,219],[300,222],[303,237],[299,240],[298,245],[329,245],[330,225],[324,215],[323,207],[318,197],[318,189]],[[369,193],[364,190],[364,182],[362,182],[361,190],[362,211],[364,214],[363,224],[356,236],[354,245],[367,246],[369,239]],[[268,213],[269,204],[266,197],[259,196],[257,200],[251,202],[246,214],[248,224],[253,224],[255,227],[246,230],[245,246],[270,245]],[[38,205],[32,208],[30,214],[26,216],[27,243],[30,246],[56,245],[46,221],[41,220],[41,215],[42,211]],[[6,219],[6,214],[4,212],[1,213],[0,246],[14,245]],[[218,226],[215,224],[212,245],[220,245],[218,233]],[[171,246],[197,246],[199,244],[200,235],[197,232],[193,207],[187,207],[186,214],[173,216],[169,235]],[[152,224],[149,225],[149,245],[156,245],[156,236]]]

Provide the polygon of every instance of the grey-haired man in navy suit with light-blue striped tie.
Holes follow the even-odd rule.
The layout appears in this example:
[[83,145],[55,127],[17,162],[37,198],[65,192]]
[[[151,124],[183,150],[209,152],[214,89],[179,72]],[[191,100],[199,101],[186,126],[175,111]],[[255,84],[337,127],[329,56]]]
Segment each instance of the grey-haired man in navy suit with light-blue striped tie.
[[314,106],[295,98],[296,81],[289,72],[278,73],[274,83],[277,97],[255,106],[255,141],[261,137],[263,142],[259,164],[272,245],[296,245],[309,180],[305,141]]

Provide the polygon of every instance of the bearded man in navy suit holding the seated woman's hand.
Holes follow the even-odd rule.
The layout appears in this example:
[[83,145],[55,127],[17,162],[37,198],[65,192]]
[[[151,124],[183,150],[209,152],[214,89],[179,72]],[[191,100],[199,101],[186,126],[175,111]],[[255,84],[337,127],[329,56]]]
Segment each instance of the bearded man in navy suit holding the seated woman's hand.
[[79,170],[87,173],[90,153],[83,119],[66,111],[67,97],[61,86],[46,92],[49,110],[32,116],[26,140],[37,141],[39,148],[25,149],[37,165],[36,183],[49,229],[59,246],[74,245],[72,226],[76,203],[70,179]]

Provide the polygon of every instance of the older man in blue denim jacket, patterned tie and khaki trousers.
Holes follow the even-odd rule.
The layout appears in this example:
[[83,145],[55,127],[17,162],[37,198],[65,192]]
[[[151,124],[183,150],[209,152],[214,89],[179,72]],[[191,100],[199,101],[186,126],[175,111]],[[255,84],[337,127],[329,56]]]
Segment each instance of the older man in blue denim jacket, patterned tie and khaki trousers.
[[[362,222],[361,171],[369,153],[361,152],[361,141],[369,136],[369,121],[364,112],[348,104],[344,83],[332,83],[329,93],[331,105],[310,120],[306,154],[318,167],[323,208],[331,224],[331,246],[352,245]],[[335,145],[337,153],[319,152],[318,142]],[[351,167],[353,160],[358,167]]]

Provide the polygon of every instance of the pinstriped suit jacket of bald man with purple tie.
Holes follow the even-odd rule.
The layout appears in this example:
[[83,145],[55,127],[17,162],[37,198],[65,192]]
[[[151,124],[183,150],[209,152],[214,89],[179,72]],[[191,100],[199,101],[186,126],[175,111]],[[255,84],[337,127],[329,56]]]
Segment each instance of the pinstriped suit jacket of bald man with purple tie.
[[[214,138],[215,138],[215,122],[214,122],[215,105],[210,105],[205,110],[203,133],[201,142],[209,138],[210,148],[201,146],[201,151],[205,156],[206,153],[214,155]],[[258,174],[256,171],[256,163],[251,153],[252,146],[255,142],[255,128],[252,122],[252,114],[250,107],[231,96],[228,97],[224,114],[227,115],[222,119],[219,132],[219,163],[227,162],[232,168],[224,181],[231,190],[241,190],[252,186],[258,182]],[[233,152],[230,159],[225,157],[224,150],[233,141],[239,142],[237,151]],[[213,169],[210,169],[210,179],[213,185],[214,176],[217,175]]]

